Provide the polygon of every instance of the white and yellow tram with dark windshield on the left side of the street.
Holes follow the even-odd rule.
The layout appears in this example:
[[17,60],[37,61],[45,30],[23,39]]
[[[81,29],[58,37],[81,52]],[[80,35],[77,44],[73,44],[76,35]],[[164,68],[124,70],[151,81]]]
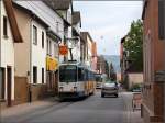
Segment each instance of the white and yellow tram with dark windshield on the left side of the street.
[[80,98],[94,94],[96,90],[95,74],[78,64],[59,66],[59,98]]

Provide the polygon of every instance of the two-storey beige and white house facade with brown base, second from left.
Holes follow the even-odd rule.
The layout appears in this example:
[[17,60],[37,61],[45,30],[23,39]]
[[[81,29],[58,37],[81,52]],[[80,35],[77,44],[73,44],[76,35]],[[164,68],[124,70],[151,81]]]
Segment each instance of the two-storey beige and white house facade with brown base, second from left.
[[14,46],[15,103],[22,103],[37,100],[46,90],[45,45],[48,25],[38,16],[34,18],[23,4],[14,3],[14,12],[23,37],[23,43]]

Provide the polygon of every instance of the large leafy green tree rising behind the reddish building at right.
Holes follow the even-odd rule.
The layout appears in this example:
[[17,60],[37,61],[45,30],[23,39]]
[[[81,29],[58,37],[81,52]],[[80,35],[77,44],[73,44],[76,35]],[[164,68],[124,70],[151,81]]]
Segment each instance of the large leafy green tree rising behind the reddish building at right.
[[133,21],[123,44],[128,59],[138,71],[143,71],[143,23],[141,20]]

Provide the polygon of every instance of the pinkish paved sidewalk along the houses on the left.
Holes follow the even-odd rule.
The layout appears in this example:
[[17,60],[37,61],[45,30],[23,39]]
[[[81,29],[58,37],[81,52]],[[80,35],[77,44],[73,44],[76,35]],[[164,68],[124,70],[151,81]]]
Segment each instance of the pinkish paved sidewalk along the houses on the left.
[[38,101],[33,101],[33,102],[28,102],[19,105],[13,105],[11,108],[3,109],[1,111],[0,109],[0,116],[2,118],[8,118],[11,115],[20,115],[20,114],[25,114],[30,113],[40,109],[47,109],[50,107],[53,107],[59,102],[56,101],[55,97],[38,100]]

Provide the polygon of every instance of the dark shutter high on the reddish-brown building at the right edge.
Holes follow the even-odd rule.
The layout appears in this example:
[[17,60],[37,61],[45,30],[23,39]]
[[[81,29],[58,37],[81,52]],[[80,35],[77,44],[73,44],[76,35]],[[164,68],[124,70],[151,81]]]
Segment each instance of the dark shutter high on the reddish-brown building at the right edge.
[[158,1],[158,35],[165,40],[165,0]]

